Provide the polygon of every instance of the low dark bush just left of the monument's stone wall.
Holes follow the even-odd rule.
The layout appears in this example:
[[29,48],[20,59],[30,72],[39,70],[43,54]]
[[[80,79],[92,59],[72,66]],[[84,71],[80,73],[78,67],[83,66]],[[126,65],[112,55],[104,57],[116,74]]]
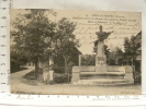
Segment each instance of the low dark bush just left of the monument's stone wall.
[[[69,74],[69,82],[71,80],[71,74]],[[55,83],[67,83],[68,82],[68,73],[54,73],[54,82]]]

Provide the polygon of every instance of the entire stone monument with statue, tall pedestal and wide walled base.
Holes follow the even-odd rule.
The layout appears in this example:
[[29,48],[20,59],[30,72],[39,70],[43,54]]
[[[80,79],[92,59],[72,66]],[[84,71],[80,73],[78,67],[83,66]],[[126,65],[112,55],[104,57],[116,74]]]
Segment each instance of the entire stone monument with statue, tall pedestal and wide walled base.
[[72,66],[74,84],[97,84],[97,85],[120,85],[133,83],[133,71],[128,66],[108,65],[104,51],[104,40],[113,32],[103,32],[102,26],[99,26],[97,32],[97,40],[94,41],[93,50],[96,55],[96,65],[81,65],[81,57],[79,56],[79,66]]

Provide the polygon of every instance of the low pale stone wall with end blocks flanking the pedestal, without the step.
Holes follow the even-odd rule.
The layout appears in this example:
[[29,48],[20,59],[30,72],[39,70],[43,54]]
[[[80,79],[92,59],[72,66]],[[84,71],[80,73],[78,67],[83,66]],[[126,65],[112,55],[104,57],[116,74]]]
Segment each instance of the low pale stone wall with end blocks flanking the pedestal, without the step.
[[74,66],[72,68],[72,80],[71,82],[77,82],[78,80],[85,78],[115,78],[125,80],[133,82],[133,69],[130,65],[108,65],[106,72],[96,72],[96,66]]

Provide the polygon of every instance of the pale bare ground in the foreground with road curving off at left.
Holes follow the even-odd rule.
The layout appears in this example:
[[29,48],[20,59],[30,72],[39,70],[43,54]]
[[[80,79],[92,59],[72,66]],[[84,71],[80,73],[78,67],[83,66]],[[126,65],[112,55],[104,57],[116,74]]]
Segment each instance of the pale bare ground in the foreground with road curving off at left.
[[[74,85],[53,84],[46,85],[37,80],[26,80],[23,76],[34,68],[12,73],[11,92],[13,94],[45,94],[45,95],[139,95],[141,85],[126,86],[97,86],[97,85]],[[42,80],[42,78],[41,78]]]

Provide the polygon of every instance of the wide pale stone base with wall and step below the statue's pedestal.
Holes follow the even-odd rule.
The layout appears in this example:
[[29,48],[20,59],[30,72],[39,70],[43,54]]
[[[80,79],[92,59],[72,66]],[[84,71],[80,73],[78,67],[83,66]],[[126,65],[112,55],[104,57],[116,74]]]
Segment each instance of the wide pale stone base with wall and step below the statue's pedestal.
[[134,83],[132,72],[132,66],[74,66],[71,82],[75,84],[126,85]]

